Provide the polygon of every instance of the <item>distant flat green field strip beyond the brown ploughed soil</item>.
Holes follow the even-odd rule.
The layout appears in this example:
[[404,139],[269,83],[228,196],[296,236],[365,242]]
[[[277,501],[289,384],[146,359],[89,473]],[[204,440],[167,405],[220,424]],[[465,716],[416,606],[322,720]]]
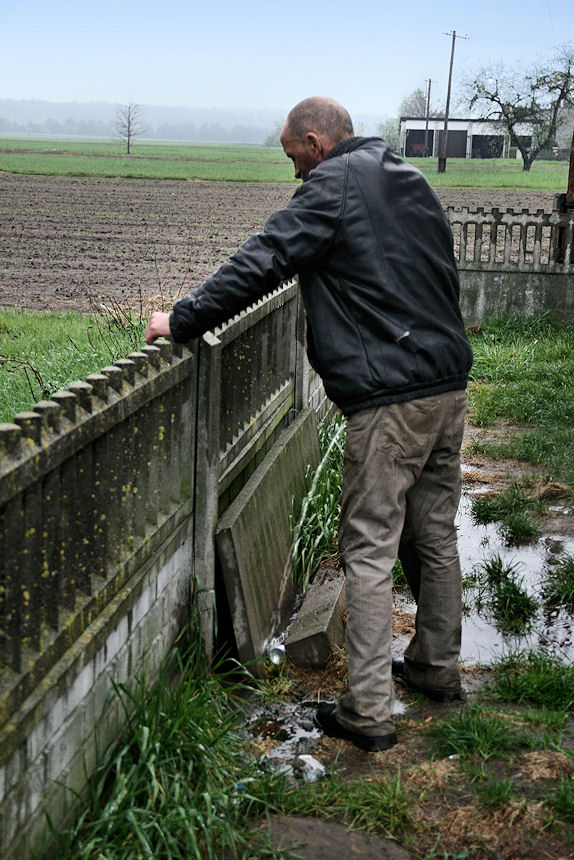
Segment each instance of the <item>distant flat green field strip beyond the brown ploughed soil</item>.
[[[451,158],[446,173],[437,160],[413,159],[437,188],[566,188],[567,162],[536,161],[530,172],[516,159]],[[204,143],[148,143],[125,146],[105,140],[0,138],[0,171],[44,176],[124,179],[212,179],[234,182],[293,182],[293,166],[279,148]]]

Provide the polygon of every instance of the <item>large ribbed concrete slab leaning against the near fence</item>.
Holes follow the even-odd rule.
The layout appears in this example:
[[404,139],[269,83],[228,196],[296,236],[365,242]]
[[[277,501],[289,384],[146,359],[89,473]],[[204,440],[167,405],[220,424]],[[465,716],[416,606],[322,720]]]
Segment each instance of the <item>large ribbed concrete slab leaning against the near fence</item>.
[[[284,629],[293,603],[292,500],[319,463],[315,415],[308,410],[281,434],[219,520],[216,547],[239,659],[255,675],[269,639]],[[258,662],[259,661],[259,662]]]

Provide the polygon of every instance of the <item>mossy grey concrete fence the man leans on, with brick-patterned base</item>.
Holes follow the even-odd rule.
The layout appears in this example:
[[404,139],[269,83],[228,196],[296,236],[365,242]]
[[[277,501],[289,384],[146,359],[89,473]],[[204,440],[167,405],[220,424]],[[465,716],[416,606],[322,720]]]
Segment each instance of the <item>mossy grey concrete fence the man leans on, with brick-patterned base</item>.
[[[118,736],[113,685],[153,680],[192,588],[209,656],[218,519],[274,443],[327,408],[303,333],[293,281],[191,348],[144,347],[0,425],[3,858],[40,848],[45,813],[57,824],[71,812]],[[289,470],[317,456],[307,435],[272,482],[287,536],[286,493],[304,492]],[[250,630],[251,651],[272,615]]]

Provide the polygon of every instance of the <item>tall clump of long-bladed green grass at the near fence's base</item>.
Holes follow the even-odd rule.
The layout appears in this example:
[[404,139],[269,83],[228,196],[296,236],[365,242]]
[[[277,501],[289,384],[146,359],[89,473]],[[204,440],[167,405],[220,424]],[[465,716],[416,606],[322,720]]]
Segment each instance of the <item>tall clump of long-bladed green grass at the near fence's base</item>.
[[174,661],[155,686],[140,680],[116,690],[127,718],[120,743],[76,821],[54,833],[57,856],[216,860],[226,850],[247,852],[245,822],[265,806],[258,794],[273,796],[271,783],[283,782],[257,772],[248,753],[237,681],[210,672],[197,643]]

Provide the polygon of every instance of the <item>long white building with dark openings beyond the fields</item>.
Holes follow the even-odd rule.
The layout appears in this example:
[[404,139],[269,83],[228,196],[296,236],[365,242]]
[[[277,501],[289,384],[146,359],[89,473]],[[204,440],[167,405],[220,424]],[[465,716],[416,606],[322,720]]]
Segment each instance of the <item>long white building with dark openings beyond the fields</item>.
[[[405,158],[425,154],[425,136],[428,155],[438,157],[444,132],[444,117],[429,117],[428,131],[425,117],[400,118],[400,153]],[[532,142],[532,126],[518,127],[520,137],[528,146]],[[484,119],[449,119],[447,137],[448,158],[508,158],[510,137],[499,126]]]

